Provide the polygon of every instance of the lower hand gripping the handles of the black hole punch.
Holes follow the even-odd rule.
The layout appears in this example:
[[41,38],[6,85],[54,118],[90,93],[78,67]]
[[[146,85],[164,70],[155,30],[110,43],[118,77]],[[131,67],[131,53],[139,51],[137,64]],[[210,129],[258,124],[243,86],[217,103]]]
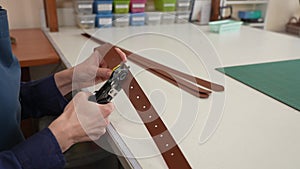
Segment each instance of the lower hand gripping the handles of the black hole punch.
[[62,152],[75,143],[97,140],[106,132],[108,116],[114,106],[91,102],[89,96],[88,92],[76,94],[64,112],[49,125]]

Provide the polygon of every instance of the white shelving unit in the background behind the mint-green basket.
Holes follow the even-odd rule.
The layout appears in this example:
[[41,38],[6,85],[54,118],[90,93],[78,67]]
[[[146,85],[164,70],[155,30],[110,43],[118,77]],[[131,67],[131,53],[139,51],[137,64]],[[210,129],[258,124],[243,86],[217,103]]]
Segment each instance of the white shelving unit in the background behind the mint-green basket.
[[232,6],[232,17],[235,19],[239,19],[238,11],[240,11],[240,10],[260,10],[262,13],[262,18],[264,19],[264,22],[263,23],[249,23],[247,25],[264,29],[265,22],[267,20],[266,13],[268,10],[268,3],[269,3],[269,0],[221,0],[220,7]]

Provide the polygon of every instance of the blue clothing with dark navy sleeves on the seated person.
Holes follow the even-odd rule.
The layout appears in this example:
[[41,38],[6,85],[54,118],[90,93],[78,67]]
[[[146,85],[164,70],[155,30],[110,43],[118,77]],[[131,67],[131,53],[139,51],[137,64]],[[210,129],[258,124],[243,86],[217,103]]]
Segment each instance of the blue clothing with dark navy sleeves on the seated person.
[[46,128],[27,140],[21,119],[59,115],[67,101],[54,77],[20,83],[20,65],[12,54],[6,10],[0,7],[0,169],[59,169],[65,160]]

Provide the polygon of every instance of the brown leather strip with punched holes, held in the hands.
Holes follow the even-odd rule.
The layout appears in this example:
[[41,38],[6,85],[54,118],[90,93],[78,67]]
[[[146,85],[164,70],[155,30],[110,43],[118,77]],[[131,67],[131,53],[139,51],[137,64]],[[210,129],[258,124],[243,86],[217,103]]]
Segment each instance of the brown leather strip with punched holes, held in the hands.
[[[104,61],[108,68],[112,69],[121,62],[121,58],[112,48],[104,56]],[[153,138],[168,168],[190,169],[191,166],[184,154],[130,71],[122,88]]]

